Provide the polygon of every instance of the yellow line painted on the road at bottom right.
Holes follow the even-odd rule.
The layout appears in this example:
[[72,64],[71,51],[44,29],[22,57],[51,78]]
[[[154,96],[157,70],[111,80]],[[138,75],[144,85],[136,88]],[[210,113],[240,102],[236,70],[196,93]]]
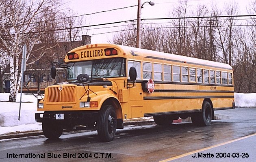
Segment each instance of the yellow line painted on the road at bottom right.
[[175,157],[172,157],[172,158],[169,158],[169,159],[165,159],[165,160],[162,160],[162,161],[160,161],[160,162],[169,162],[169,161],[171,161],[171,160],[175,160],[175,159],[178,159],[178,158],[182,158],[182,157],[184,157],[184,156],[188,156],[188,155],[191,155],[191,154],[193,154],[193,153],[197,153],[197,152],[205,151],[205,150],[207,150],[207,149],[212,149],[212,148],[214,148],[214,147],[226,145],[226,144],[228,144],[228,143],[232,143],[232,142],[235,142],[235,141],[239,141],[239,140],[241,140],[241,139],[246,139],[246,138],[248,138],[248,137],[255,136],[255,135],[256,135],[256,133],[251,134],[251,135],[248,135],[248,136],[241,137],[241,138],[239,138],[239,139],[234,139],[234,140],[231,140],[231,141],[228,141],[228,142],[220,143],[220,144],[218,144],[218,145],[213,145],[213,146],[206,147],[206,148],[203,148],[203,149],[198,149],[198,150],[195,150],[195,151],[191,151],[191,152],[188,152],[188,153],[184,153],[184,154],[182,154],[182,155],[175,156]]

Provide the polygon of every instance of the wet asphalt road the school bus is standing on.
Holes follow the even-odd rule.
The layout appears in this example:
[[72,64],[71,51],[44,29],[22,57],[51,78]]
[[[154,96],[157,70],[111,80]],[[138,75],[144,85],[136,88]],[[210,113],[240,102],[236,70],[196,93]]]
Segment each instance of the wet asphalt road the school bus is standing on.
[[[97,132],[80,132],[62,135],[58,140],[44,136],[0,141],[0,162],[6,161],[161,161],[184,153],[193,152],[233,139],[256,133],[256,109],[236,108],[215,111],[222,115],[210,126],[196,127],[191,122],[157,126],[151,124],[126,126],[118,130],[115,139],[101,142]],[[202,153],[248,153],[248,158],[193,158],[185,156],[174,161],[255,161],[256,136],[229,143]],[[8,154],[46,154],[45,158],[7,158]],[[48,154],[61,158],[47,158]],[[63,153],[75,154],[75,158],[63,158]],[[104,153],[104,154],[101,154]],[[108,154],[106,154],[108,153]],[[111,153],[111,158],[110,154]],[[81,158],[78,158],[80,155]],[[83,158],[90,156],[88,158]],[[98,158],[96,158],[98,157]]]

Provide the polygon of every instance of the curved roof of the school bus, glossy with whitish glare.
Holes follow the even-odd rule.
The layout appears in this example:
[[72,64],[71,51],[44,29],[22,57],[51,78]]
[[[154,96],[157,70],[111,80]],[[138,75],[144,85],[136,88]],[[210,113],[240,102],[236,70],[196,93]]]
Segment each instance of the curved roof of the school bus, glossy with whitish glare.
[[187,64],[195,64],[195,65],[201,65],[201,66],[209,66],[209,67],[215,67],[215,68],[224,68],[232,70],[232,66],[220,62],[213,62],[209,60],[203,60],[198,58],[191,58],[187,56],[182,55],[175,55],[171,53],[163,53],[158,51],[151,51],[147,49],[139,49],[135,47],[128,47],[128,46],[122,46],[122,45],[114,45],[114,44],[95,44],[95,45],[85,45],[81,47],[77,47],[75,49],[72,49],[70,52],[76,52],[88,48],[95,48],[95,47],[113,47],[118,48],[119,50],[126,53],[126,58],[128,59],[135,59],[135,60],[145,60],[144,58],[148,59],[156,59],[156,60],[166,60],[166,61],[172,61],[172,62],[180,62],[180,63],[187,63]]

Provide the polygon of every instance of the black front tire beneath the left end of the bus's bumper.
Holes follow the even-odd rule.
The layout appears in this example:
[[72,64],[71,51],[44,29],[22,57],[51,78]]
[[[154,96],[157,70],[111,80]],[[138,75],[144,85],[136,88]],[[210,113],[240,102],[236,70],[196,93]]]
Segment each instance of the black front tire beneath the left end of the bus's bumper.
[[43,134],[48,139],[59,139],[63,132],[63,128],[56,123],[43,122]]

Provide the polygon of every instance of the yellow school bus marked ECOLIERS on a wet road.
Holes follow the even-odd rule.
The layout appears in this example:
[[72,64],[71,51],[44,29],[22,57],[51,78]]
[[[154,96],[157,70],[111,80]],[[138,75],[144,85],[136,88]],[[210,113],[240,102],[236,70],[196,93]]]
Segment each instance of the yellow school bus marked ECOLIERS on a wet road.
[[113,44],[85,45],[65,56],[67,78],[46,88],[35,114],[48,139],[63,129],[97,130],[111,141],[123,120],[153,116],[158,125],[179,117],[208,126],[214,111],[234,109],[228,64]]

